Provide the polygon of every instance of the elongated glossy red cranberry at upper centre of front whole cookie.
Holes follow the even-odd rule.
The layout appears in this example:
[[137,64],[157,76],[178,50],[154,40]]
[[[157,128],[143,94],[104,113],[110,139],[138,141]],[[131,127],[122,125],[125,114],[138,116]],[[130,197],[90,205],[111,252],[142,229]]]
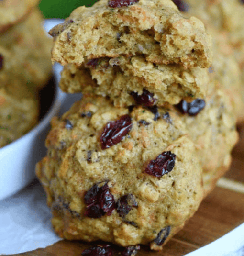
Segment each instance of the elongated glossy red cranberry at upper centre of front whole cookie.
[[132,129],[133,123],[129,115],[123,115],[119,120],[108,122],[101,137],[101,148],[109,148],[122,141],[123,136]]

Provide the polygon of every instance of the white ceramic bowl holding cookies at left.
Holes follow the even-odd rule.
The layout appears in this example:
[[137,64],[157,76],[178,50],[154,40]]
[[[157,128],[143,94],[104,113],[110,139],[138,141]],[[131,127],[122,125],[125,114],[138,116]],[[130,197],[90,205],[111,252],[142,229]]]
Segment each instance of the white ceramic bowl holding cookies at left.
[[[44,28],[48,31],[60,22],[62,20],[46,20]],[[0,200],[13,195],[31,182],[35,175],[36,162],[46,154],[44,140],[49,122],[57,114],[66,97],[57,86],[61,70],[60,65],[54,65],[55,97],[42,121],[30,132],[0,149]]]

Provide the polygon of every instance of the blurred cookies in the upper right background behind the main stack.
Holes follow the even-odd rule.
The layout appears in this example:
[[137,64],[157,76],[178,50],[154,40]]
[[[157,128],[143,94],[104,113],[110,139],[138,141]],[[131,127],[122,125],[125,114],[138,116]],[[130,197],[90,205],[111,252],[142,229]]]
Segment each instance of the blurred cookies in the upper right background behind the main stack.
[[[237,121],[243,122],[244,0],[175,0],[175,2],[184,15],[194,15],[208,27],[215,43],[213,52],[215,53],[215,49],[218,49],[222,54],[222,59],[218,59],[218,56],[213,57],[212,66],[216,66],[213,71],[219,72],[219,65],[225,63],[225,69],[222,65],[221,70],[224,73],[219,72],[219,78],[225,78],[226,72],[229,72],[228,77],[232,80],[224,81],[222,79],[222,86],[227,89],[232,100],[236,102]],[[238,86],[237,83],[241,85]]]

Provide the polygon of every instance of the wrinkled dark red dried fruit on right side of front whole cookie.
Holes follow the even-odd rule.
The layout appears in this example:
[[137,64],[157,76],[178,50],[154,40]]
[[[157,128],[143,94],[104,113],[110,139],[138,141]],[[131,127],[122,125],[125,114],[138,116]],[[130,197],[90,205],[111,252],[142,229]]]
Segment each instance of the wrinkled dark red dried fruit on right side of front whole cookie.
[[149,162],[145,172],[155,177],[162,177],[172,171],[175,166],[175,160],[176,155],[171,153],[171,151],[163,152],[156,159]]

